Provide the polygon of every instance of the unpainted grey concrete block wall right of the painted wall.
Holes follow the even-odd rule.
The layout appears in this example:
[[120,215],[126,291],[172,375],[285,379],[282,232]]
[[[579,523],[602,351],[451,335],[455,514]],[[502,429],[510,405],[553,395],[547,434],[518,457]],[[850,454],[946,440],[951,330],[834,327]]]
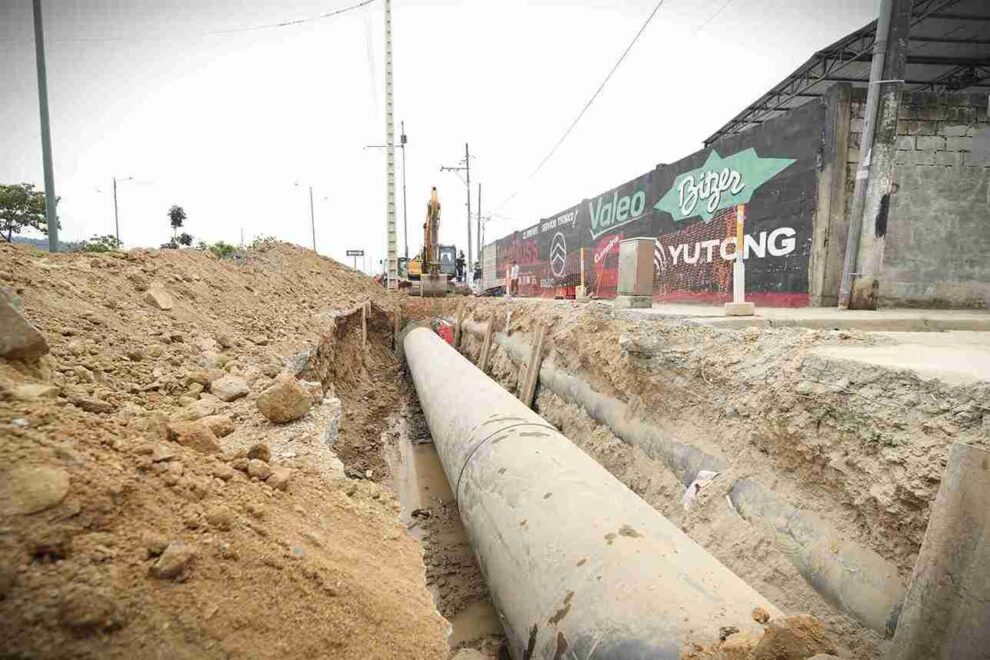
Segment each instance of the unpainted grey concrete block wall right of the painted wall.
[[[987,104],[985,93],[912,92],[902,97],[894,159],[900,188],[891,197],[882,306],[990,307]],[[847,219],[865,105],[865,90],[853,90]]]

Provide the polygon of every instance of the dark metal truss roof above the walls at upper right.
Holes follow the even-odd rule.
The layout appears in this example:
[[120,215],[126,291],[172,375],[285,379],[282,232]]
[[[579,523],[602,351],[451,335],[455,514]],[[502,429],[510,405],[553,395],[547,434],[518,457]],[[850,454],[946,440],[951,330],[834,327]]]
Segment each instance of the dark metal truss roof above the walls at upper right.
[[[877,22],[815,53],[705,140],[709,146],[823,96],[836,83],[867,86]],[[990,90],[990,1],[915,0],[906,90]]]

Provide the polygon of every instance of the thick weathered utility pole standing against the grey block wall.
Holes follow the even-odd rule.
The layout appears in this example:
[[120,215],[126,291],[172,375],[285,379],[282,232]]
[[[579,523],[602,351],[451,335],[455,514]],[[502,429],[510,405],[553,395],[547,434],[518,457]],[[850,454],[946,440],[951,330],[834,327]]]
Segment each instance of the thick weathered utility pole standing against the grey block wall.
[[[839,309],[876,309],[886,214],[892,191],[894,137],[913,0],[881,0],[849,233],[839,285]],[[877,221],[880,221],[879,223]]]

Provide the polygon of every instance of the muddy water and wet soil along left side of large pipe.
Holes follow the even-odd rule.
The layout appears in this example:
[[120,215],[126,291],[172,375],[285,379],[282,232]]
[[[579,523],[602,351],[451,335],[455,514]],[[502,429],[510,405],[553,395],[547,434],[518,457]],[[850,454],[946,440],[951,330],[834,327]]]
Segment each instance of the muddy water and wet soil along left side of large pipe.
[[387,433],[386,459],[402,504],[400,519],[423,545],[427,586],[451,624],[450,648],[472,647],[494,656],[502,638],[498,615],[411,385]]

